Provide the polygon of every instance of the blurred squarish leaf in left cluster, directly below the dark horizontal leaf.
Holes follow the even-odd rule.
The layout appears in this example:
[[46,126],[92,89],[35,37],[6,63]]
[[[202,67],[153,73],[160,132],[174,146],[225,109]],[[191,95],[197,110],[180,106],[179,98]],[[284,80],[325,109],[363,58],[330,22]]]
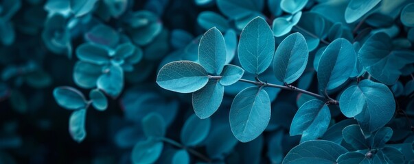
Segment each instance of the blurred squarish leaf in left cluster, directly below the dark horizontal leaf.
[[102,66],[85,61],[78,61],[73,68],[73,81],[82,88],[93,88],[102,74]]

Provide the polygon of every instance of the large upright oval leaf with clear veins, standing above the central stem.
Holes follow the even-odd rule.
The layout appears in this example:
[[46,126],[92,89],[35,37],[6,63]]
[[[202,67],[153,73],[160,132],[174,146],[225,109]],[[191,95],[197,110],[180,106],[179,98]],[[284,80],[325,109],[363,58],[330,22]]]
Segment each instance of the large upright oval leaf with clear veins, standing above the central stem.
[[275,38],[263,18],[256,17],[240,34],[238,57],[247,72],[260,74],[271,65],[275,53]]

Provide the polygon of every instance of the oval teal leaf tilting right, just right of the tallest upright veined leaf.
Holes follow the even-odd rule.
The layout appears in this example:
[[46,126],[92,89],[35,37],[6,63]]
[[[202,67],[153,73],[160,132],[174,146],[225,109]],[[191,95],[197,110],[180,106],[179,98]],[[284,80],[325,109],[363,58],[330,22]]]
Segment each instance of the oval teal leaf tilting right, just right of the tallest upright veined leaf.
[[286,37],[277,47],[273,59],[273,71],[277,80],[293,83],[299,79],[308,64],[308,56],[308,45],[301,33],[292,33]]

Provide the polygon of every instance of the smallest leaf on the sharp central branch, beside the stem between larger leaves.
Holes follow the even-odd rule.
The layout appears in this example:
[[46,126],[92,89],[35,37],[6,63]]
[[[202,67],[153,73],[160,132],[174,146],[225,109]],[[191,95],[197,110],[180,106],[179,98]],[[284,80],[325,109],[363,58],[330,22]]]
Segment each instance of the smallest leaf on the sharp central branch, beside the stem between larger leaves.
[[242,68],[228,64],[223,68],[223,71],[220,74],[220,84],[225,86],[232,85],[233,83],[238,82],[243,77],[243,74],[244,70]]

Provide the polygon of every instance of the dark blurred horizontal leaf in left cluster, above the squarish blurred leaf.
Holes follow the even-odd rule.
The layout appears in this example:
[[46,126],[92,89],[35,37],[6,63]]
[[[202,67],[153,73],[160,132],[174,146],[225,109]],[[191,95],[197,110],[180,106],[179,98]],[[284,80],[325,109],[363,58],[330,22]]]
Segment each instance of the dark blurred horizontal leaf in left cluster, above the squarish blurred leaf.
[[108,51],[100,44],[84,43],[78,46],[76,49],[76,56],[81,61],[87,61],[92,64],[108,64],[109,54]]

